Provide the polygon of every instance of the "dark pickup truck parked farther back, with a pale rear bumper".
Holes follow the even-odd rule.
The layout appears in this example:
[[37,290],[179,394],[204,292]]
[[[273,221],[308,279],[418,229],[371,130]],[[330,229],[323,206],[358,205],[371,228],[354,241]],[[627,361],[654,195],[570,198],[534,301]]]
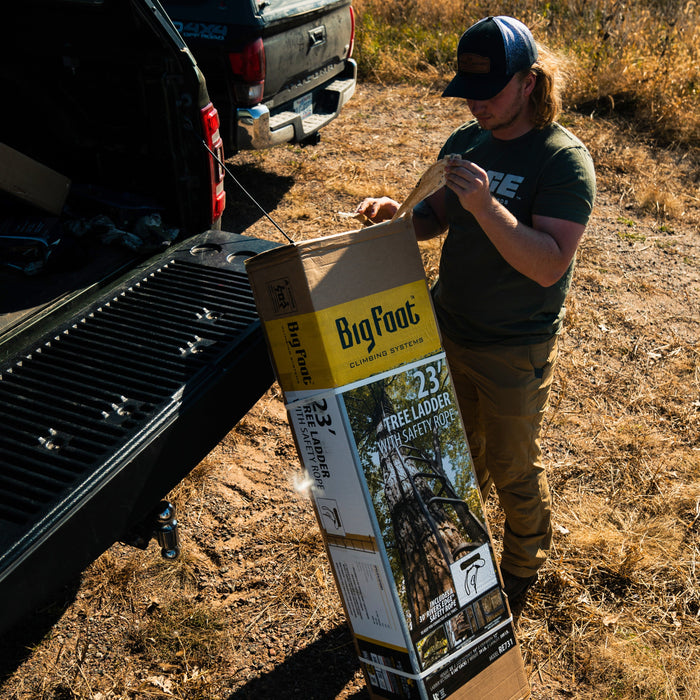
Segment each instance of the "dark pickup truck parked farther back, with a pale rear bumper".
[[315,143],[355,91],[350,0],[163,0],[221,114],[230,155]]

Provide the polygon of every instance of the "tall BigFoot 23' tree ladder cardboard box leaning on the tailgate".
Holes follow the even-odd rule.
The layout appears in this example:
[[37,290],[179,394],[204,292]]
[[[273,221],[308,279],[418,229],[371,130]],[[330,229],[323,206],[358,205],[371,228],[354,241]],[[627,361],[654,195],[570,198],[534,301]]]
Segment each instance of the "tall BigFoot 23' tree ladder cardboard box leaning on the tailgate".
[[371,697],[528,697],[410,215],[247,271]]

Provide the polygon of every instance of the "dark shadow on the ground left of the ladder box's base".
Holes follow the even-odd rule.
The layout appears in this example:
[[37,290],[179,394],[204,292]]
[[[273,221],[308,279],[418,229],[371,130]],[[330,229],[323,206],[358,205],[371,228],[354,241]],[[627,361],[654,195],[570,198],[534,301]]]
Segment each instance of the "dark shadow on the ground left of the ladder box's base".
[[[341,625],[273,670],[249,681],[226,700],[333,700],[353,680],[359,668],[350,631],[346,625]],[[362,683],[346,697],[348,700],[367,700],[369,694]]]

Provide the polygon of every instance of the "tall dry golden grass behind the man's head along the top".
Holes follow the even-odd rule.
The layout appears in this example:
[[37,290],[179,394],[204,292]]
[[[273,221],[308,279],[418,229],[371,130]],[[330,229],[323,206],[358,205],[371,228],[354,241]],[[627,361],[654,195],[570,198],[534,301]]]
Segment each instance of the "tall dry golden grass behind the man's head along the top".
[[622,113],[666,143],[700,141],[700,8],[686,0],[463,3],[355,0],[363,79],[440,84],[472,22],[512,15],[560,53],[566,97],[587,113]]

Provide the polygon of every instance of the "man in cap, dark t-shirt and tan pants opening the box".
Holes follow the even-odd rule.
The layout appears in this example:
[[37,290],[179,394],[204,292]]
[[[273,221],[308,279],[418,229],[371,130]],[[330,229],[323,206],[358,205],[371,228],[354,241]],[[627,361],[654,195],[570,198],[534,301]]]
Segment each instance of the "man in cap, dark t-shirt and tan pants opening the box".
[[[433,301],[482,495],[495,485],[506,516],[511,602],[537,580],[551,544],[540,428],[595,196],[588,151],[554,121],[561,103],[543,53],[512,17],[462,35],[443,96],[465,98],[474,119],[443,146],[446,186],[413,217],[418,240],[448,231]],[[376,222],[397,209],[382,197],[358,212]]]

